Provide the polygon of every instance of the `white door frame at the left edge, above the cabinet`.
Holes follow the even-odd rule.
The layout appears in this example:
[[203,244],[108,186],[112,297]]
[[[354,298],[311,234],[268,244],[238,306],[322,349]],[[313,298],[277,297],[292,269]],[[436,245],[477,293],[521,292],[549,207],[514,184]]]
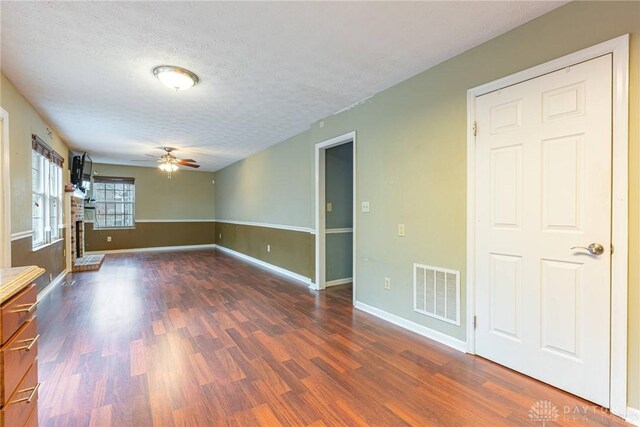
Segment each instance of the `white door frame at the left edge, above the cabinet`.
[[9,165],[9,113],[0,108],[2,121],[2,143],[0,143],[0,267],[11,267],[11,174]]

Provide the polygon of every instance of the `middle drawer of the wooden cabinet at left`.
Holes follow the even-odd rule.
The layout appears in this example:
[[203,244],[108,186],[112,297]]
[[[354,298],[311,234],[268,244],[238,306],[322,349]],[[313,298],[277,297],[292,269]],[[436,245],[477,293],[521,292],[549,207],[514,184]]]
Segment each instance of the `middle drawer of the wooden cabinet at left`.
[[38,332],[36,318],[33,317],[2,347],[0,366],[0,406],[4,406],[18,387],[29,367],[38,355]]

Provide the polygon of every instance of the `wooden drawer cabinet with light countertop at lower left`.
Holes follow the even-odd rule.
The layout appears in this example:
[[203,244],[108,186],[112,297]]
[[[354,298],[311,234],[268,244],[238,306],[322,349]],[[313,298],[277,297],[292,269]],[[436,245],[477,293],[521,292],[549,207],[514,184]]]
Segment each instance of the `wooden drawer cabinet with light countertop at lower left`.
[[38,267],[0,269],[0,427],[38,423]]

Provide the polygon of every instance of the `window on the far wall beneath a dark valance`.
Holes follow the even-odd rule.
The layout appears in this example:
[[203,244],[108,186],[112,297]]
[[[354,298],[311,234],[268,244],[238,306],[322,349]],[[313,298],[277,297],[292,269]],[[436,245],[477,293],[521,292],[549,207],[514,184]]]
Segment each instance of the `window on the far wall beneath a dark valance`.
[[135,181],[133,178],[95,177],[94,228],[130,228],[135,225]]

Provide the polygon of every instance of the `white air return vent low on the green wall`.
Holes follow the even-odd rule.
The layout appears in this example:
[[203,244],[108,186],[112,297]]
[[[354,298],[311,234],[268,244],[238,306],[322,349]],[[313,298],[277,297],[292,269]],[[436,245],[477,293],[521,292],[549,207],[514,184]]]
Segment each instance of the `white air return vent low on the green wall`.
[[460,272],[413,264],[413,310],[460,325]]

